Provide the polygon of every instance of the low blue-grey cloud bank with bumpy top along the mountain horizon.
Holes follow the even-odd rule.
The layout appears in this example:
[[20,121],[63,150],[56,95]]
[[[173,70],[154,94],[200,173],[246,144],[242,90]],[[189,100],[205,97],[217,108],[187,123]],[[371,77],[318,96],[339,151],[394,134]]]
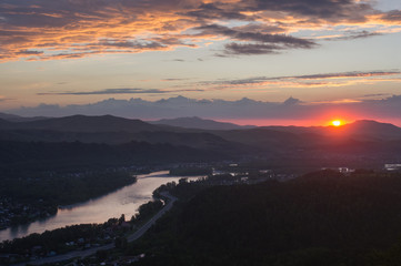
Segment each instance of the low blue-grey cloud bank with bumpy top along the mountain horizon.
[[[362,113],[370,117],[397,119],[401,113],[401,95],[392,95],[380,100],[364,100],[358,103],[337,104],[345,113]],[[174,119],[181,116],[199,116],[232,121],[232,119],[258,119],[265,121],[305,121],[319,113],[329,112],[331,103],[305,104],[300,99],[289,98],[285,101],[269,102],[243,98],[241,100],[190,99],[181,95],[157,101],[141,98],[106,99],[90,104],[39,104],[9,110],[22,116],[67,116],[73,114],[104,115],[146,120]],[[368,117],[369,117],[368,116]]]

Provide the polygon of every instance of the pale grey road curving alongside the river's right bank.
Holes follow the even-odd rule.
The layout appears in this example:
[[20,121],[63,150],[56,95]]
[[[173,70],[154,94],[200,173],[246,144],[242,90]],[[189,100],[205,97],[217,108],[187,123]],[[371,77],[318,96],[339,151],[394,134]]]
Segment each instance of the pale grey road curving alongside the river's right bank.
[[[163,193],[161,193],[161,195],[163,195],[163,196],[166,196],[167,198],[170,200],[168,202],[168,204],[166,204],[164,207],[162,209],[160,209],[151,219],[149,219],[144,225],[142,225],[138,231],[136,231],[136,233],[128,236],[127,237],[128,242],[134,242],[138,238],[140,238],[144,233],[147,233],[147,231],[150,227],[152,227],[152,225],[161,216],[163,216],[168,211],[171,209],[172,205],[178,200],[177,197],[170,195],[168,192],[163,192]],[[44,257],[44,258],[39,258],[39,259],[36,259],[36,260],[30,260],[30,262],[27,262],[27,263],[14,264],[12,266],[26,266],[27,264],[29,264],[29,265],[41,265],[41,264],[48,264],[48,263],[62,262],[62,260],[67,260],[67,259],[71,259],[71,258],[88,257],[88,256],[91,256],[91,255],[96,254],[98,250],[111,249],[113,247],[114,247],[114,243],[108,244],[108,245],[104,245],[104,246],[100,246],[100,247],[92,247],[92,248],[89,248],[89,249],[86,249],[86,250],[70,252],[70,253],[67,253],[67,254],[57,255],[57,256],[52,256],[52,257]]]

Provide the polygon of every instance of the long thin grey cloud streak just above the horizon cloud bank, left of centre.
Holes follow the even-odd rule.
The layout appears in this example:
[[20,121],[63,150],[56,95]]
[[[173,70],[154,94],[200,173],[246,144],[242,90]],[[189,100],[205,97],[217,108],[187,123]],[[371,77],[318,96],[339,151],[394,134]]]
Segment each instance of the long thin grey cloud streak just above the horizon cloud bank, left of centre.
[[103,94],[163,94],[163,93],[179,93],[203,91],[200,89],[187,90],[159,90],[159,89],[106,89],[100,91],[67,91],[67,92],[42,92],[38,95],[103,95]]

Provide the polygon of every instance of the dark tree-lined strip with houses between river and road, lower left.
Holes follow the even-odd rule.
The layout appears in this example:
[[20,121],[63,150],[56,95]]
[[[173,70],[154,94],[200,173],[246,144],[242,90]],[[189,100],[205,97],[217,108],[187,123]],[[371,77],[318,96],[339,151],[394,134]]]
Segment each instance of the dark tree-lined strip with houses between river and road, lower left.
[[[126,219],[109,218],[101,224],[79,224],[62,228],[46,231],[42,234],[31,234],[26,237],[3,241],[0,243],[0,263],[13,265],[33,262],[40,258],[68,254],[70,252],[87,250],[114,244],[117,248],[127,246],[128,236],[136,233],[148,219],[158,213],[166,203],[166,198],[154,198],[142,204],[138,214]],[[99,250],[101,254],[102,250]]]

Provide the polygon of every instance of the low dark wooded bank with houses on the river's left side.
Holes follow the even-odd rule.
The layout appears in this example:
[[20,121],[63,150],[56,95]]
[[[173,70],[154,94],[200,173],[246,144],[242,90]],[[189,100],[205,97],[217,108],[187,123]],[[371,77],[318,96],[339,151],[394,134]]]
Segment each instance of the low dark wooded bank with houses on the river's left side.
[[111,193],[137,182],[129,168],[76,172],[31,172],[28,176],[2,178],[0,229],[56,215],[69,206]]

